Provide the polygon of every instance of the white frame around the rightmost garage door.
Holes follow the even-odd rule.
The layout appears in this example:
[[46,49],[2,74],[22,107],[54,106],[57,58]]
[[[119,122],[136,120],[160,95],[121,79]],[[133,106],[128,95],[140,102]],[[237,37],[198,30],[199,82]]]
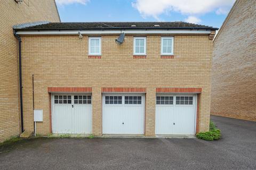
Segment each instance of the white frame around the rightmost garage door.
[[[156,97],[157,96],[173,96],[173,104],[175,102],[176,105],[176,96],[193,96],[193,101],[194,101],[194,133],[196,134],[196,127],[197,127],[197,112],[198,112],[198,105],[197,105],[197,98],[198,98],[198,94],[195,93],[156,93]],[[174,99],[175,98],[175,99]],[[156,98],[155,98],[155,102],[156,102]],[[156,103],[155,103],[156,104]],[[157,104],[156,104],[157,107]],[[179,106],[180,107],[180,106]],[[157,116],[157,112],[155,112],[155,118]],[[155,123],[155,134],[156,135],[172,135],[172,134],[157,134],[157,124]],[[175,134],[176,135],[176,134]]]

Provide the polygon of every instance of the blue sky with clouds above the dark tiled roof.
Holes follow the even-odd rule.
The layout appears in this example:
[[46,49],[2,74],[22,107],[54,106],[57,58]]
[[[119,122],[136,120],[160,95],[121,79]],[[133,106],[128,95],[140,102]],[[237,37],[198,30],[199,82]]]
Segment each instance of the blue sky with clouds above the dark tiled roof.
[[187,21],[218,28],[234,1],[56,0],[62,22]]

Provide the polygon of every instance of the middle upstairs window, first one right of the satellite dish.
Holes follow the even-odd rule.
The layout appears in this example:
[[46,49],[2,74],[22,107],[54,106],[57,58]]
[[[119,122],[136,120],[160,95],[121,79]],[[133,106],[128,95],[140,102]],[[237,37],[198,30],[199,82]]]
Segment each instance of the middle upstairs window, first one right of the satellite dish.
[[134,37],[133,55],[146,55],[146,37]]

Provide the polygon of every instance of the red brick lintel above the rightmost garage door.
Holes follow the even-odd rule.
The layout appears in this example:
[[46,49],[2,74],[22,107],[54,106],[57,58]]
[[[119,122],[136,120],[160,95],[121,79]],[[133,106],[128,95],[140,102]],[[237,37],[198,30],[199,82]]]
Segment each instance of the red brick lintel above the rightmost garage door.
[[202,88],[156,88],[156,92],[183,92],[200,94]]

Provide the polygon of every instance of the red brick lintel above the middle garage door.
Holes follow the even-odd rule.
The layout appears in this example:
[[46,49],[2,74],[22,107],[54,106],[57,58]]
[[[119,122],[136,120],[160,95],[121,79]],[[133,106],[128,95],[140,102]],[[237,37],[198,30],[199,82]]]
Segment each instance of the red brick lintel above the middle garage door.
[[102,92],[146,92],[146,88],[121,88],[121,87],[103,87]]

